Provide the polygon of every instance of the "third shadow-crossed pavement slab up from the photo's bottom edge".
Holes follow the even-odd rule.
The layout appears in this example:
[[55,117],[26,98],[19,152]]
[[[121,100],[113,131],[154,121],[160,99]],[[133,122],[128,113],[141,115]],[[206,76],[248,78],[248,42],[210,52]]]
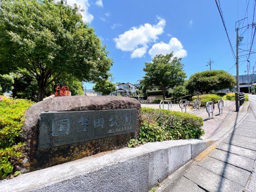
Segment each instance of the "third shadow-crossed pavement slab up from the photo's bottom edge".
[[215,150],[209,154],[210,157],[226,162],[228,164],[252,171],[254,160],[242,157],[236,154],[231,154],[221,150]]

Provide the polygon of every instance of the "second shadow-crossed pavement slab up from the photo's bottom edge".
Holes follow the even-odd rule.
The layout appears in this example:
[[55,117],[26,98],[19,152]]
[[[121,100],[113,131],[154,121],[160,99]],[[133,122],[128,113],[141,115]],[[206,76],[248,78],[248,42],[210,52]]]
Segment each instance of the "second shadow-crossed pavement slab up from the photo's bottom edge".
[[238,168],[211,157],[204,158],[201,162],[198,163],[198,165],[242,186],[246,185],[246,182],[250,176],[250,172],[247,170]]

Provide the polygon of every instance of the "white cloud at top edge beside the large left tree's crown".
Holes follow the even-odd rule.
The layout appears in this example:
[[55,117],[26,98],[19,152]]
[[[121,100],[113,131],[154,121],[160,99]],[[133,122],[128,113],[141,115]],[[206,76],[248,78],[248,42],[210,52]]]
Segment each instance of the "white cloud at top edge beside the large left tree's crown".
[[67,3],[71,6],[76,4],[81,9],[83,9],[83,11],[80,11],[83,22],[91,23],[91,21],[93,20],[93,15],[88,12],[88,8],[90,7],[88,0],[67,0]]

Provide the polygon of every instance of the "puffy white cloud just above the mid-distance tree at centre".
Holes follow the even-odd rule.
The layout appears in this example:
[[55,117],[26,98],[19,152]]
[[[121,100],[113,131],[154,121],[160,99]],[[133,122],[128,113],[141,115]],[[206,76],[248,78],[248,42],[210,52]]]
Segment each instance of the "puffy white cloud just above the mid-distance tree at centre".
[[181,42],[175,37],[171,38],[168,44],[163,41],[154,44],[148,54],[153,58],[157,54],[166,55],[171,52],[174,53],[174,57],[182,58],[187,56],[187,51],[183,49]]

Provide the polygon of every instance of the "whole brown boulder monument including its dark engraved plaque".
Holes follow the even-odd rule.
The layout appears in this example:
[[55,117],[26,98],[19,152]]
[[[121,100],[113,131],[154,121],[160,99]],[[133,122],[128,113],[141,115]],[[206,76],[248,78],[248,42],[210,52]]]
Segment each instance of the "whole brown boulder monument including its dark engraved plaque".
[[140,103],[129,97],[67,96],[32,105],[20,139],[22,173],[126,146],[140,131]]

